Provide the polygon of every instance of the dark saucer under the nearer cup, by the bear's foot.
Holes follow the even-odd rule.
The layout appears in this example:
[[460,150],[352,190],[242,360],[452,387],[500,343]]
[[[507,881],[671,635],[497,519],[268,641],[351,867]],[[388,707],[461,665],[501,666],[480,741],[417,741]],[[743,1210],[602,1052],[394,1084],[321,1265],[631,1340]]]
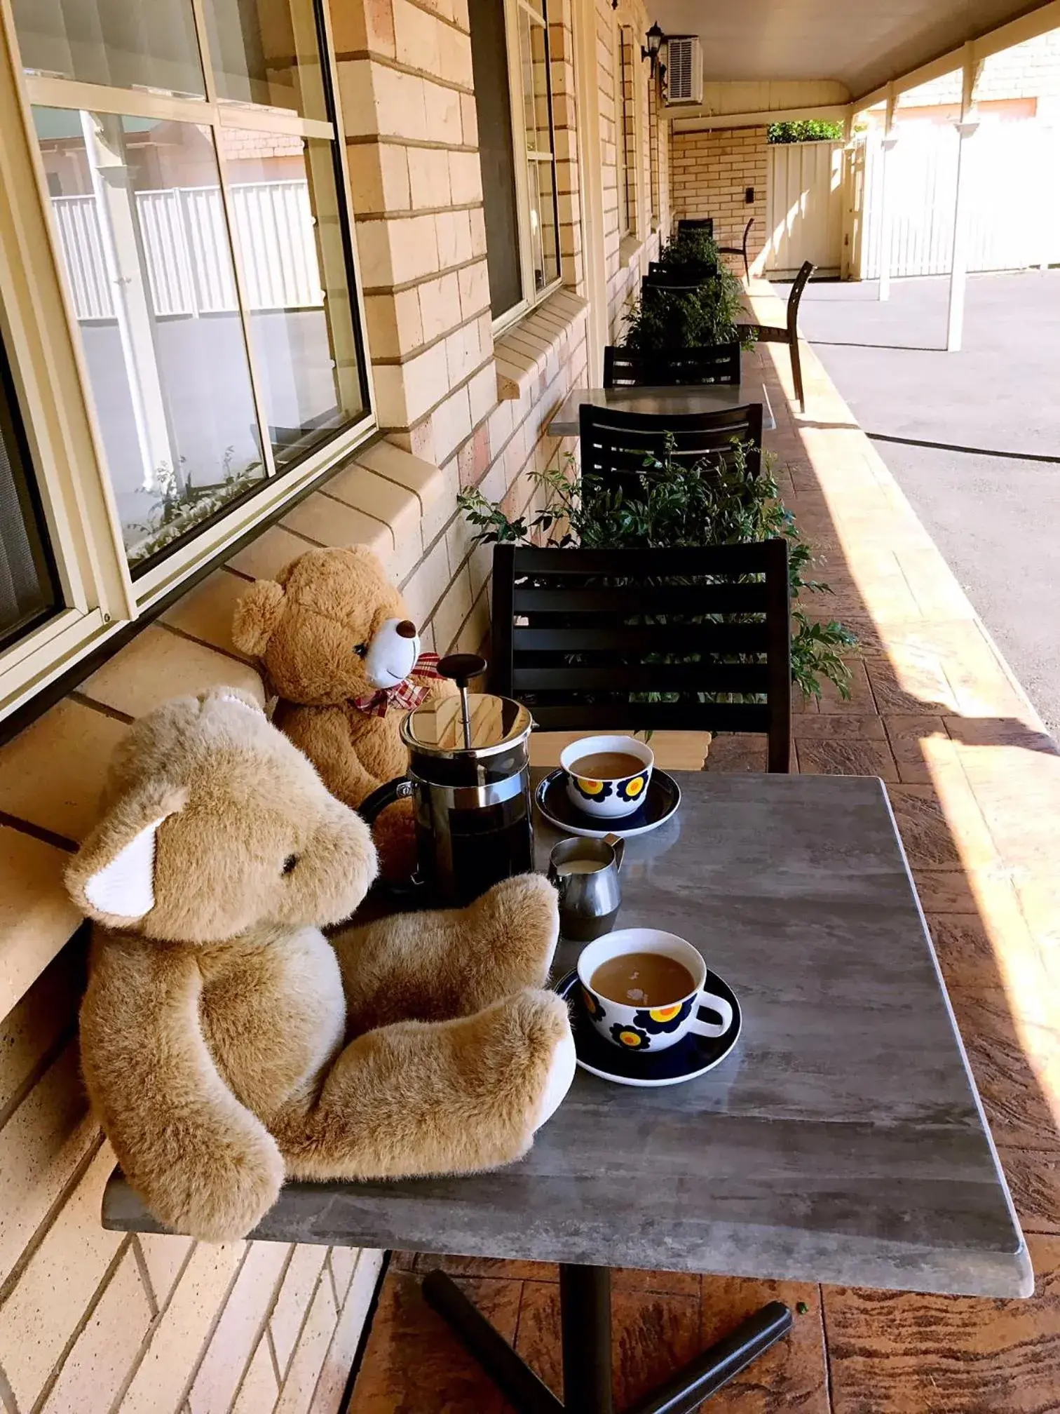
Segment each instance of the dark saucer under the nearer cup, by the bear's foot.
[[555,984],[555,991],[565,1000],[572,1001],[571,1029],[574,1031],[574,1049],[578,1065],[591,1075],[598,1075],[602,1080],[613,1080],[615,1085],[635,1085],[652,1087],[660,1085],[680,1085],[683,1080],[694,1080],[698,1075],[712,1070],[736,1045],[742,1025],[739,1003],[736,994],[726,981],[712,971],[707,973],[707,991],[724,997],[732,1007],[732,1025],[721,1036],[701,1036],[690,1032],[676,1046],[666,1051],[642,1051],[639,1053],[619,1051],[618,1046],[605,1041],[585,1015],[581,1001],[581,987],[578,973],[570,971]]

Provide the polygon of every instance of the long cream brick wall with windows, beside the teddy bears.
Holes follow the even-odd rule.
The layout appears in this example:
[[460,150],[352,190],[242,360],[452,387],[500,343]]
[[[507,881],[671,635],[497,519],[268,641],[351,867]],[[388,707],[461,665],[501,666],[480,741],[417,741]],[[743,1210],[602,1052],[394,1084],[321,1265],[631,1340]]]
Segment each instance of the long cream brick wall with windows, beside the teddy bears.
[[[546,427],[587,382],[578,105],[598,103],[608,317],[615,329],[669,226],[669,124],[635,49],[637,232],[618,232],[615,27],[642,0],[595,0],[599,90],[574,88],[571,0],[550,4],[564,287],[496,342],[489,314],[466,0],[332,6],[351,197],[386,437],[0,748],[0,1408],[4,1414],[335,1414],[382,1254],[211,1246],[99,1225],[113,1154],[78,1075],[83,933],[62,870],[95,817],[127,723],[230,683],[264,700],[235,649],[246,584],[314,544],[370,544],[438,652],[488,629],[489,553],[457,512],[481,485],[513,512],[565,450]],[[652,148],[650,144],[654,144]],[[654,178],[652,150],[656,153]],[[595,154],[591,154],[591,163]],[[620,249],[622,246],[622,249]],[[568,444],[570,445],[570,444]]]

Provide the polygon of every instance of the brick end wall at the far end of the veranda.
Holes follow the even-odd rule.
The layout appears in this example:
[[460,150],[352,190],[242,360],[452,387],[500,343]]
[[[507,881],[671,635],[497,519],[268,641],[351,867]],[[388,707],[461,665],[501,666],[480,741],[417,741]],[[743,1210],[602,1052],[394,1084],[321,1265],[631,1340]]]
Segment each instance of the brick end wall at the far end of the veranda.
[[[722,127],[673,136],[671,201],[674,219],[714,216],[714,236],[721,246],[739,246],[750,216],[748,257],[755,260],[766,243],[767,151],[765,127]],[[755,188],[748,205],[745,191]],[[743,273],[743,262],[731,260]]]

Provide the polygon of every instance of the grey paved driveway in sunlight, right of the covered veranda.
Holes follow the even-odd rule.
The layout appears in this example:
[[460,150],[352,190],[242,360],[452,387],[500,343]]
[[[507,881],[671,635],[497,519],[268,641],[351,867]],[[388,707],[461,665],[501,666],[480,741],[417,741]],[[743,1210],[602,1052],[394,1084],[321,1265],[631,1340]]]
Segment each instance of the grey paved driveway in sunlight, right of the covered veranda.
[[1060,735],[1060,270],[970,276],[960,354],[946,276],[876,288],[808,286],[803,337]]

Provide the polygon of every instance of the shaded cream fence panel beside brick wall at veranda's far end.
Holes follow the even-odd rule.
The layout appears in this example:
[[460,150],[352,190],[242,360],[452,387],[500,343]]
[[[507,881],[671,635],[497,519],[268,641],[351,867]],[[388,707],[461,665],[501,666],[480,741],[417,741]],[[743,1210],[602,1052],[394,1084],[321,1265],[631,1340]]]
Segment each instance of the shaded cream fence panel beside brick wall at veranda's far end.
[[794,274],[813,260],[838,274],[841,257],[842,143],[770,144],[763,269]]

